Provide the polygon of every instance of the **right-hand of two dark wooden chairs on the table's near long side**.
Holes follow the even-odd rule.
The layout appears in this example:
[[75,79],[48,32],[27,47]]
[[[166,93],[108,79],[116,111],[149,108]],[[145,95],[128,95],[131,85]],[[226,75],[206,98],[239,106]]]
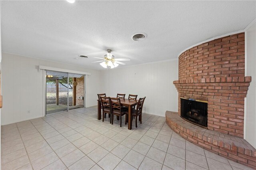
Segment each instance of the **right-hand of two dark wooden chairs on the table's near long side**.
[[[112,125],[114,121],[114,115],[116,115],[117,117],[120,117],[119,119],[120,127],[122,127],[122,115],[125,115],[126,110],[122,108],[120,98],[110,98],[110,106],[111,106]],[[126,122],[126,116],[125,116],[125,122]]]

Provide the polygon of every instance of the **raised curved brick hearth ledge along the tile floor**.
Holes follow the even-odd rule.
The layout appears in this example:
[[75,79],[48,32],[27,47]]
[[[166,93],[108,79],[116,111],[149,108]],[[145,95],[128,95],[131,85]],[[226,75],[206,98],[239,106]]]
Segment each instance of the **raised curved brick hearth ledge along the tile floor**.
[[189,123],[178,112],[166,111],[166,123],[173,131],[195,145],[256,169],[256,149],[246,140]]

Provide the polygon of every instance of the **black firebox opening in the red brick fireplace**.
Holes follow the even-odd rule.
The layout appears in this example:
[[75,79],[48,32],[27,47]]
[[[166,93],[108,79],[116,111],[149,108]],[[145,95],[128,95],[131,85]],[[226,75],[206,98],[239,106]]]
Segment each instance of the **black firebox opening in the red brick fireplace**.
[[201,127],[207,127],[207,102],[183,98],[180,100],[181,117]]

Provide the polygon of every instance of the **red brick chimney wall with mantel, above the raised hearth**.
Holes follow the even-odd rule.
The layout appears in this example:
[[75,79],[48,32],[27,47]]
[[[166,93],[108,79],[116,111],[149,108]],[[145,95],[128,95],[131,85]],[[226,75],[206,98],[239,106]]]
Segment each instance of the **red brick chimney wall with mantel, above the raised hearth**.
[[244,33],[188,49],[179,56],[180,97],[208,101],[208,129],[243,137],[244,97],[251,77],[244,76]]

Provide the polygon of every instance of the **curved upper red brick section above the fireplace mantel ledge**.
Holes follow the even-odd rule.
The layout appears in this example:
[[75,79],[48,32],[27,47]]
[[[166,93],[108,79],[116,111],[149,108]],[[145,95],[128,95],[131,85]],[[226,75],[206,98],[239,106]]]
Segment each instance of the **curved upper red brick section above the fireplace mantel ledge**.
[[179,80],[244,77],[244,33],[203,43],[179,57]]

